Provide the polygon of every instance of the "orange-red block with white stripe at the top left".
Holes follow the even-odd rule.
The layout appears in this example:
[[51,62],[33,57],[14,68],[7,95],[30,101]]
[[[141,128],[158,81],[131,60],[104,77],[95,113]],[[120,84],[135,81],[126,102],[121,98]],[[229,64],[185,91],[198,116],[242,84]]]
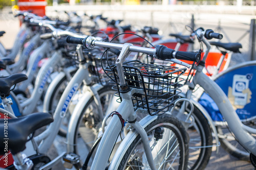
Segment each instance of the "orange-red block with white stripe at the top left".
[[38,16],[46,15],[46,0],[18,0],[20,11],[31,11]]

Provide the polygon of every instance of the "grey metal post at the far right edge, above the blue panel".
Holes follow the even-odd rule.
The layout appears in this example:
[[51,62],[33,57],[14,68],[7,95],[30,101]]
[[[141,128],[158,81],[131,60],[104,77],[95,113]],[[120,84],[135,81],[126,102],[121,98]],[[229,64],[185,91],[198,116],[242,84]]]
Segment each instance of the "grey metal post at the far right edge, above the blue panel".
[[251,19],[250,38],[249,38],[249,56],[251,60],[255,60],[255,19]]

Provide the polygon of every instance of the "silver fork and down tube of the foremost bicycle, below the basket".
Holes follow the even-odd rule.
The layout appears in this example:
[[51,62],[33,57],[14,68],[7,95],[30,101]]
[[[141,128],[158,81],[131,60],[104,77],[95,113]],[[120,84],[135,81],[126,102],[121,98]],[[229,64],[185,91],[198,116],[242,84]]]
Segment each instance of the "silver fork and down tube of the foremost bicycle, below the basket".
[[[133,103],[132,103],[132,94],[133,93],[141,93],[141,90],[132,89],[126,93],[122,93],[122,102],[120,106],[117,108],[117,112],[121,114],[124,120],[128,120],[131,126],[134,127],[142,138],[143,147],[145,149],[145,155],[150,165],[151,169],[156,169],[154,159],[151,152],[150,142],[148,141],[147,134],[143,127],[136,121],[137,112],[134,112]],[[139,109],[140,111],[141,109]],[[142,110],[143,111],[143,110]],[[95,159],[93,160],[93,164],[91,169],[104,169],[106,166],[106,162],[111,155],[112,149],[122,129],[120,119],[117,115],[113,115],[110,120],[109,125],[106,127],[105,132],[103,133],[102,139],[99,143]],[[105,162],[105,163],[103,163]]]

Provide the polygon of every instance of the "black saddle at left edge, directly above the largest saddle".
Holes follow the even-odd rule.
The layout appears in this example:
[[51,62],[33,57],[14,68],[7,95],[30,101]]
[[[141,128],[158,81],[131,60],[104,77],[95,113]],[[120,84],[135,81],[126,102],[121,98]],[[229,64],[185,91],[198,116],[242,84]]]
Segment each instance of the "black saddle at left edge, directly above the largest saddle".
[[28,77],[24,74],[13,74],[11,76],[0,77],[0,95],[1,97],[8,96],[10,89],[14,84],[27,80]]

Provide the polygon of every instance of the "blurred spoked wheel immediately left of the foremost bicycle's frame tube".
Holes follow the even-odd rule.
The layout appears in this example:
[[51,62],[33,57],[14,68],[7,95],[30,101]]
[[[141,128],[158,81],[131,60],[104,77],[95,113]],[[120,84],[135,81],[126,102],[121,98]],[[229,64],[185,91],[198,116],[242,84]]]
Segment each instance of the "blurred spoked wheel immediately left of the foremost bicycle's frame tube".
[[[108,106],[108,101],[111,100],[111,96],[116,93],[116,90],[113,90],[112,86],[113,85],[106,85],[98,91],[101,105],[103,107],[103,113],[106,111],[106,107]],[[110,96],[108,94],[110,94]],[[106,98],[108,98],[108,100],[106,100]],[[97,117],[97,109],[95,107],[97,106],[92,96],[91,99],[84,104],[82,112],[80,113],[79,119],[76,123],[73,146],[74,153],[79,155],[80,158],[84,158],[80,160],[81,163],[86,159],[86,150],[90,150],[92,147],[93,142],[98,137],[97,134],[99,132],[99,128],[101,127],[102,120],[98,119],[99,117]],[[91,121],[95,121],[95,125],[93,125]],[[81,153],[79,153],[79,151],[81,151]]]

